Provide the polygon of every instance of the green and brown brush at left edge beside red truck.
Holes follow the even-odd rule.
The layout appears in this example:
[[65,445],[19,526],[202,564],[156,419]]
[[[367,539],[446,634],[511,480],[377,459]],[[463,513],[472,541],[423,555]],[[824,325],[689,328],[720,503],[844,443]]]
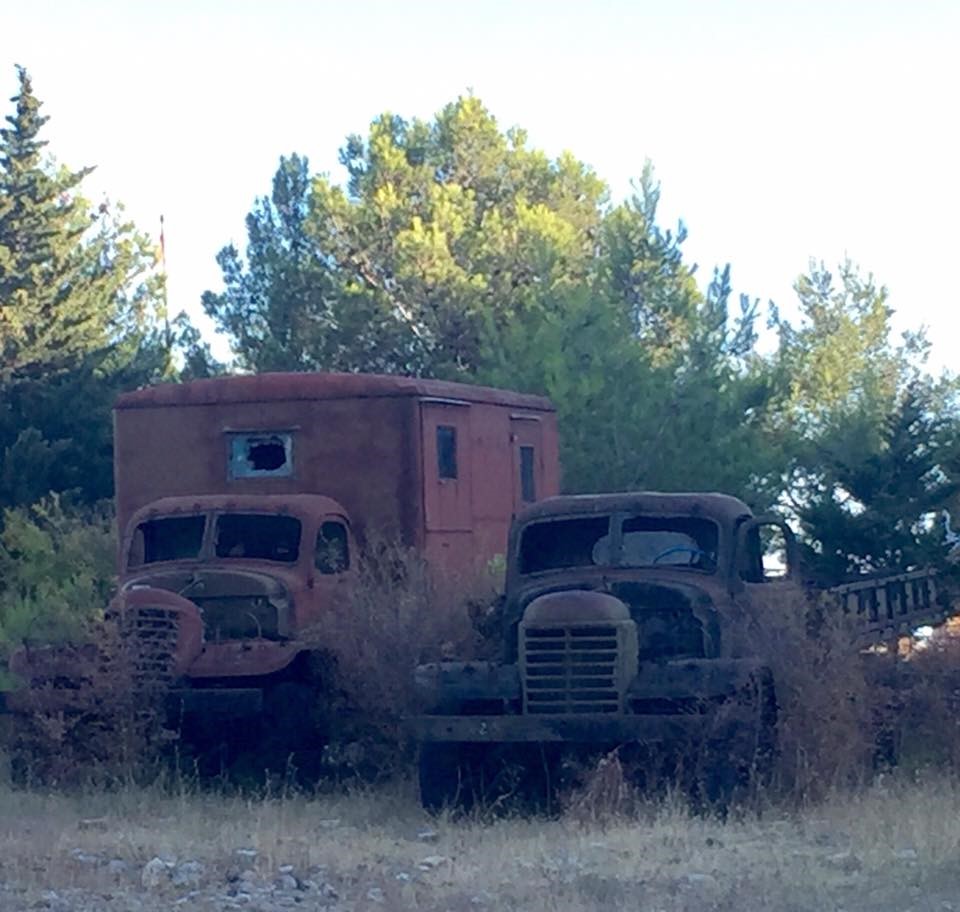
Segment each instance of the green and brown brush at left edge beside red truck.
[[[72,510],[51,495],[7,510],[0,534],[0,689],[18,691],[2,746],[23,780],[127,776],[160,735],[136,686],[131,644],[108,616],[116,538],[110,505]],[[11,657],[30,680],[16,680]]]

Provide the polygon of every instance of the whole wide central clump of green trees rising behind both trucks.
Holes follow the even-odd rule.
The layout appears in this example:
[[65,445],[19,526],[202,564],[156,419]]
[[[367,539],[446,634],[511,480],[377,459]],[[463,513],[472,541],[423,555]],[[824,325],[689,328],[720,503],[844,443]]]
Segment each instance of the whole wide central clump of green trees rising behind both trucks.
[[[473,97],[431,123],[384,114],[341,150],[347,185],[282,159],[247,220],[246,261],[220,253],[207,312],[252,370],[366,370],[549,395],[565,485],[722,488],[762,505],[775,384],[756,308],[728,314],[662,230],[649,166],[636,195],[569,153],[503,132]],[[696,458],[691,458],[696,440]]]

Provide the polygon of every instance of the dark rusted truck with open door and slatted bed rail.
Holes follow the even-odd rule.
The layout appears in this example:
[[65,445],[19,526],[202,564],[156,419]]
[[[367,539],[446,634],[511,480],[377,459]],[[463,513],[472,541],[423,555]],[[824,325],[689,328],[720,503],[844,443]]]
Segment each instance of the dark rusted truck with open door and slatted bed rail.
[[[833,590],[852,645],[942,620],[927,571]],[[723,494],[553,497],[514,522],[498,661],[421,666],[425,807],[496,790],[504,748],[533,778],[557,747],[699,745],[729,792],[769,761],[771,606],[813,604],[793,533]],[[812,615],[811,615],[812,616]],[[735,710],[735,711],[732,711]],[[499,764],[499,766],[498,766]]]

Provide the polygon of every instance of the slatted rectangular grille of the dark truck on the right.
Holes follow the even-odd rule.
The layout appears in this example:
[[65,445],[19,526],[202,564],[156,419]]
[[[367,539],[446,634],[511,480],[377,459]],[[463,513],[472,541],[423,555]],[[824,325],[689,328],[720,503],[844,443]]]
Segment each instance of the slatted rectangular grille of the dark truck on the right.
[[524,624],[521,629],[526,712],[620,712],[621,625]]

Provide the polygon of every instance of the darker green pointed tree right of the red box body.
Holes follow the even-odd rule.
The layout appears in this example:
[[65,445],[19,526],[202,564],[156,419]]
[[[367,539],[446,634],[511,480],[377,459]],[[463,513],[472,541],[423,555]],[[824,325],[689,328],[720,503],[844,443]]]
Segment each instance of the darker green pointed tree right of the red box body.
[[607,216],[589,282],[489,339],[497,361],[479,376],[550,396],[569,490],[723,490],[766,508],[778,388],[753,350],[756,308],[730,314],[727,269],[698,290],[682,226],[656,224],[658,193],[647,170]]

